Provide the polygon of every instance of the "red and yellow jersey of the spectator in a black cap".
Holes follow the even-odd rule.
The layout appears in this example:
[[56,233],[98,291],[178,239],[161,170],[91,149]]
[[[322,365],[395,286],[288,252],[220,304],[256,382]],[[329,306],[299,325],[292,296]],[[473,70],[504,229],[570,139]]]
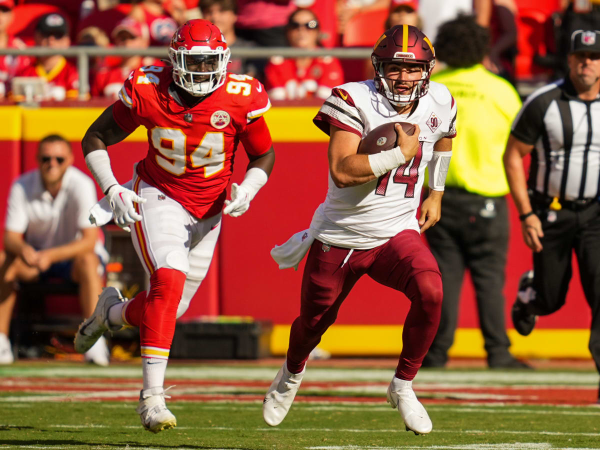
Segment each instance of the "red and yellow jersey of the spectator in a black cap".
[[21,77],[40,77],[48,82],[47,97],[42,100],[57,100],[77,98],[79,89],[79,76],[77,67],[65,58],[60,59],[58,64],[46,72],[41,64],[30,65],[17,73]]

